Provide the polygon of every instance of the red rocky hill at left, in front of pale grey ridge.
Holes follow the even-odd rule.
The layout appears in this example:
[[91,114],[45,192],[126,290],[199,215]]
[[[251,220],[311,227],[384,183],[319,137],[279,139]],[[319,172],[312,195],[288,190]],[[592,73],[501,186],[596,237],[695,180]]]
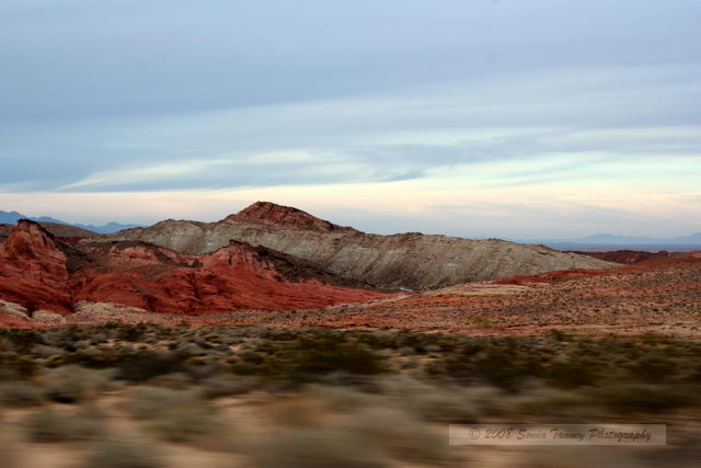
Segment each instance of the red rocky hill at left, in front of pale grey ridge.
[[387,297],[308,262],[237,241],[203,255],[134,241],[61,242],[20,220],[0,243],[0,316],[60,322],[134,312],[288,310]]

